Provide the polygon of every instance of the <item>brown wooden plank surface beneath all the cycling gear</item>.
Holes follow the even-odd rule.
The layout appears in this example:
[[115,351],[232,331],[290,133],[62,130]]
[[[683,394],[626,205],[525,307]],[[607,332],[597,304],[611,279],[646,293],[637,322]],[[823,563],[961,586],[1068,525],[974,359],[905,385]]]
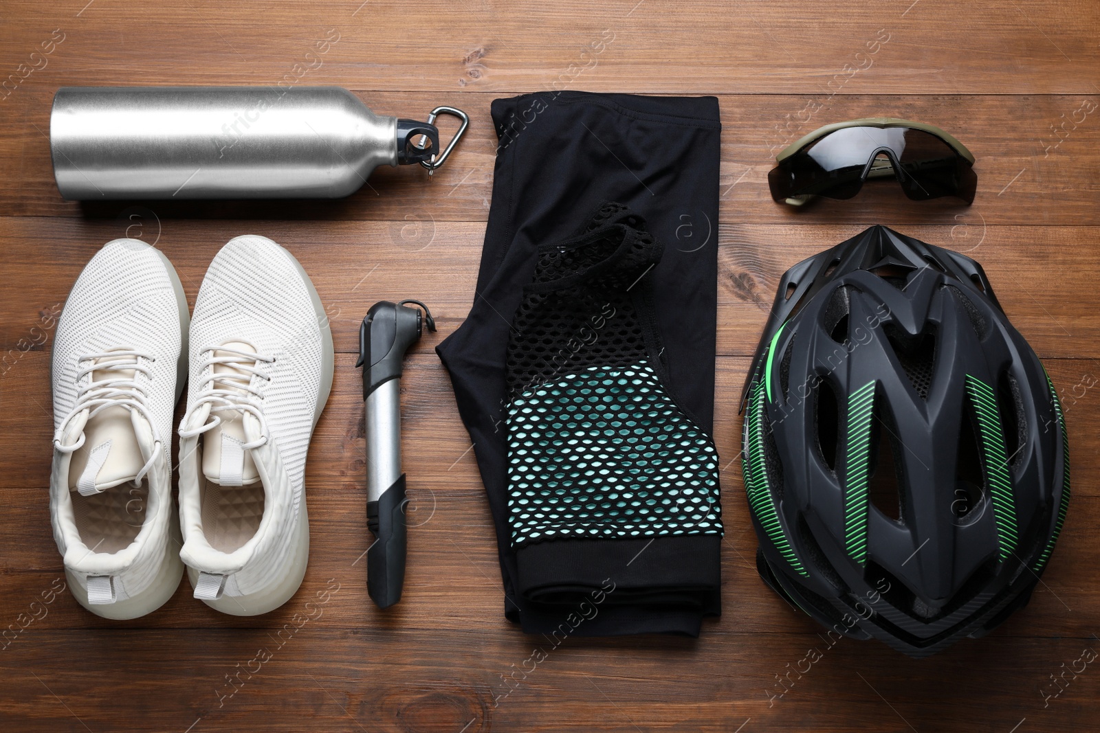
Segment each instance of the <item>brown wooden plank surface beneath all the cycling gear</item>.
[[[3,0],[0,77],[14,81],[0,100],[0,729],[1098,730],[1100,670],[1085,664],[1100,648],[1098,18],[1090,0]],[[300,84],[348,87],[387,114],[470,113],[468,138],[433,179],[386,168],[349,199],[322,202],[81,207],[58,196],[46,133],[59,86],[270,85],[332,30],[339,41]],[[581,52],[602,34],[614,41],[592,64]],[[719,96],[724,613],[698,640],[570,638],[508,684],[546,642],[502,614],[487,506],[431,347],[473,298],[490,102],[546,88]],[[766,176],[782,145],[872,114],[958,136],[978,158],[974,206],[916,203],[893,186],[806,211],[770,200]],[[872,223],[985,265],[1063,395],[1072,446],[1069,519],[1031,606],[924,660],[870,642],[831,646],[760,582],[735,460],[737,398],[779,276]],[[306,580],[255,619],[212,611],[186,581],[146,618],[99,619],[52,590],[64,575],[46,489],[50,314],[111,238],[155,243],[194,303],[210,258],[244,233],[288,247],[332,318],[337,379],[309,455]],[[403,384],[419,526],[405,597],[383,613],[356,562],[369,537],[353,349],[371,303],[414,296],[440,330],[411,353]],[[821,655],[812,666],[809,649]]]

